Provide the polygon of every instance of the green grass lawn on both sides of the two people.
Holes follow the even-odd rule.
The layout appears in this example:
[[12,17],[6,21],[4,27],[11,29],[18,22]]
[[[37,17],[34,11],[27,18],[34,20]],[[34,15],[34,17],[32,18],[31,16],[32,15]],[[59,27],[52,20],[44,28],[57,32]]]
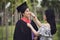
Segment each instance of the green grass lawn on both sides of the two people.
[[[15,26],[8,26],[8,40],[13,40]],[[0,26],[0,40],[6,40],[6,27]],[[53,40],[60,40],[60,24],[57,25],[57,32],[53,37]]]

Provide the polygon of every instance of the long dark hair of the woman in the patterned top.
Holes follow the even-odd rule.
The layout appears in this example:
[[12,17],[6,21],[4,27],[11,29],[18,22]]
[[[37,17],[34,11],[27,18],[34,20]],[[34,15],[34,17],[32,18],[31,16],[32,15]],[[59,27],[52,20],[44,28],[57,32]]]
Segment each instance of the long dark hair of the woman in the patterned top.
[[55,23],[55,14],[54,14],[54,10],[49,8],[45,11],[45,15],[46,15],[46,19],[47,22],[50,24],[51,26],[51,34],[55,34],[56,33],[56,23]]

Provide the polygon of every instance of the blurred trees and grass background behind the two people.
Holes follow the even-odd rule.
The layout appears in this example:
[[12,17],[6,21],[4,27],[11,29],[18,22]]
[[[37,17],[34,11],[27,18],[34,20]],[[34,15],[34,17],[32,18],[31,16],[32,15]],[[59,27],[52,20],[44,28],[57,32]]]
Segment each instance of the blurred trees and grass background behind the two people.
[[15,24],[21,18],[16,7],[24,1],[41,22],[46,8],[54,9],[57,32],[53,40],[60,40],[60,0],[0,0],[0,40],[13,40]]

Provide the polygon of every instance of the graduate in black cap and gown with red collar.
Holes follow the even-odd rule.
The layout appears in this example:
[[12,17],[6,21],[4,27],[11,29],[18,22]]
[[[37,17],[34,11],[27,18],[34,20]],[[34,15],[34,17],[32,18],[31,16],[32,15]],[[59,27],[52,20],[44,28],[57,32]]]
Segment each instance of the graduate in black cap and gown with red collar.
[[36,24],[30,20],[30,10],[26,2],[22,3],[17,7],[17,11],[22,14],[22,18],[17,21],[13,40],[33,40],[32,31],[27,27],[27,23],[30,23],[34,29],[37,31],[38,28]]

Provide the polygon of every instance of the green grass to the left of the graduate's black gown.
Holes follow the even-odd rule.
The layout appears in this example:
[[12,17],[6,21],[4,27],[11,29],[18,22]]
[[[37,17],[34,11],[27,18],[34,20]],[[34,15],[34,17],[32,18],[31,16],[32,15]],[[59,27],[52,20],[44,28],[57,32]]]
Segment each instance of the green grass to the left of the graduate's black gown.
[[[8,40],[13,40],[14,26],[8,26]],[[6,40],[6,26],[0,26],[0,40]]]

